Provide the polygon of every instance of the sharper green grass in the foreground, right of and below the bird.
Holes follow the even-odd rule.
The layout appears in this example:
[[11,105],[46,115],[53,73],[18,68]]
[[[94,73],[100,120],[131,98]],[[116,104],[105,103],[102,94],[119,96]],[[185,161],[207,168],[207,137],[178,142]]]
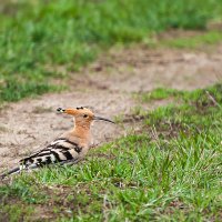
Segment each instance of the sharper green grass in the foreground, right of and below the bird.
[[58,221],[220,221],[222,84],[173,97],[180,104],[143,110],[141,134],[1,186],[0,215],[20,203],[17,219],[38,206]]

